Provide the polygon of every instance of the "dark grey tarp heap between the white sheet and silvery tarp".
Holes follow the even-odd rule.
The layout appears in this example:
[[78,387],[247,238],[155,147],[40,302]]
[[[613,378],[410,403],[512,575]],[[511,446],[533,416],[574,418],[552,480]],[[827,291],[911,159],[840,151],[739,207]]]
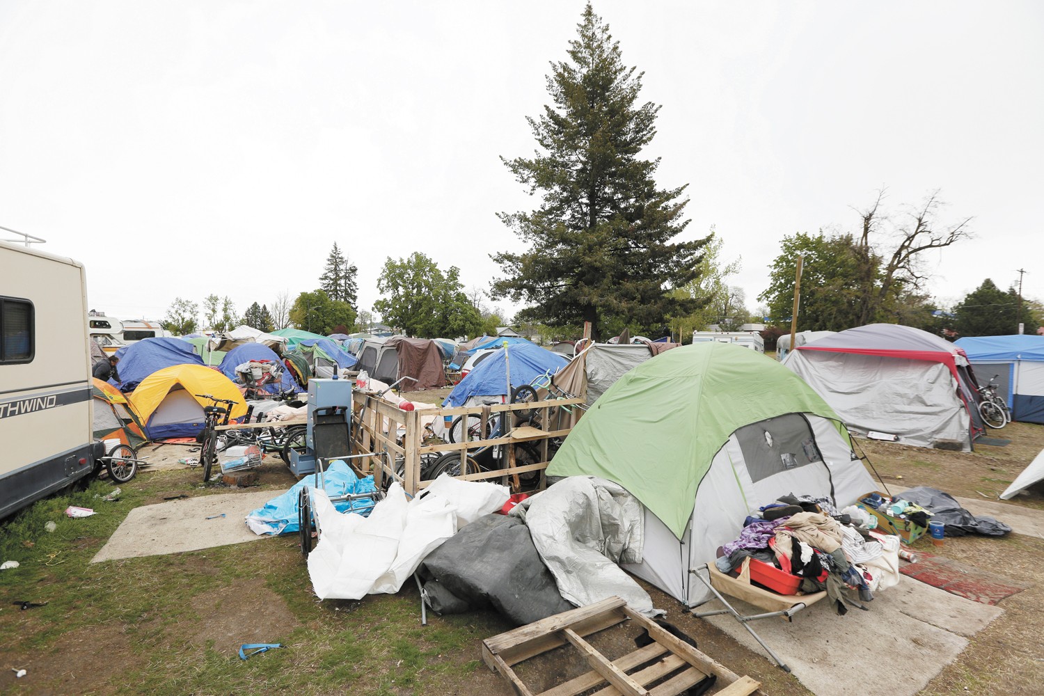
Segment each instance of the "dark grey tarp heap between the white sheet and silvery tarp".
[[515,517],[479,518],[428,554],[418,575],[440,614],[492,606],[522,626],[575,608],[540,559],[529,528]]

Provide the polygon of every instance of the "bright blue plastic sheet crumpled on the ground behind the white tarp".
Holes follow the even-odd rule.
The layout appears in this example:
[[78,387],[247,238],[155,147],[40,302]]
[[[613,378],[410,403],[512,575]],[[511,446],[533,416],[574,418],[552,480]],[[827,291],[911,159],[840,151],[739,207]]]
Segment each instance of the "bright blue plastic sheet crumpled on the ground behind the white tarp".
[[[373,476],[366,476],[360,479],[355,475],[355,472],[353,472],[352,469],[340,459],[331,462],[323,478],[326,483],[324,490],[326,490],[326,494],[330,498],[334,498],[335,496],[371,494],[377,491],[377,486],[374,485]],[[246,526],[258,534],[292,534],[298,531],[301,528],[298,523],[298,502],[301,498],[301,489],[305,486],[317,488],[317,479],[318,474],[306,476],[294,483],[293,486],[291,486],[290,489],[282,496],[278,496],[269,500],[264,507],[260,507],[247,513]],[[359,512],[360,514],[369,514],[370,510],[374,507],[374,502],[375,501],[372,498],[363,498],[360,500],[334,503],[334,507],[336,507],[340,512],[348,512],[351,510],[353,512]]]

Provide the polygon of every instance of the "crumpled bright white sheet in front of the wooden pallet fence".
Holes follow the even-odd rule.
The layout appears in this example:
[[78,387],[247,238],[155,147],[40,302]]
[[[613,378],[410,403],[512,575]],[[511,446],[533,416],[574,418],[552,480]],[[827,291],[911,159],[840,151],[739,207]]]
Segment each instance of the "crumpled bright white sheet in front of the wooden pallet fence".
[[425,556],[508,498],[504,486],[444,475],[412,500],[393,483],[363,518],[338,512],[322,490],[310,493],[319,543],[308,556],[308,574],[319,599],[399,592]]

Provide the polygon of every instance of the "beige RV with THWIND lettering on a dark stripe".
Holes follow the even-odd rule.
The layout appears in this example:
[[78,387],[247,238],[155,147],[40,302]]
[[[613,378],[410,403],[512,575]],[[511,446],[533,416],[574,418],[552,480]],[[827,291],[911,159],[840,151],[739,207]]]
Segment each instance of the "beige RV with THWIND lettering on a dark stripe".
[[0,242],[0,518],[104,456],[91,421],[87,286],[71,259]]

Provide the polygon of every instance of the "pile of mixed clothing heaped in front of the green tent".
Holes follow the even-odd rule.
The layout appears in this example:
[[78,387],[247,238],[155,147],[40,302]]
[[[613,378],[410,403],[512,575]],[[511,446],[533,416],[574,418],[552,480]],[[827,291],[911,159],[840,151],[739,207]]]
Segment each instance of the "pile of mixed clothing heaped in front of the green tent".
[[845,603],[860,606],[844,591],[858,592],[862,602],[874,592],[899,582],[899,538],[852,524],[829,499],[783,496],[749,517],[739,537],[719,550],[715,566],[733,573],[752,557],[802,578],[800,592],[826,590],[837,613]]

